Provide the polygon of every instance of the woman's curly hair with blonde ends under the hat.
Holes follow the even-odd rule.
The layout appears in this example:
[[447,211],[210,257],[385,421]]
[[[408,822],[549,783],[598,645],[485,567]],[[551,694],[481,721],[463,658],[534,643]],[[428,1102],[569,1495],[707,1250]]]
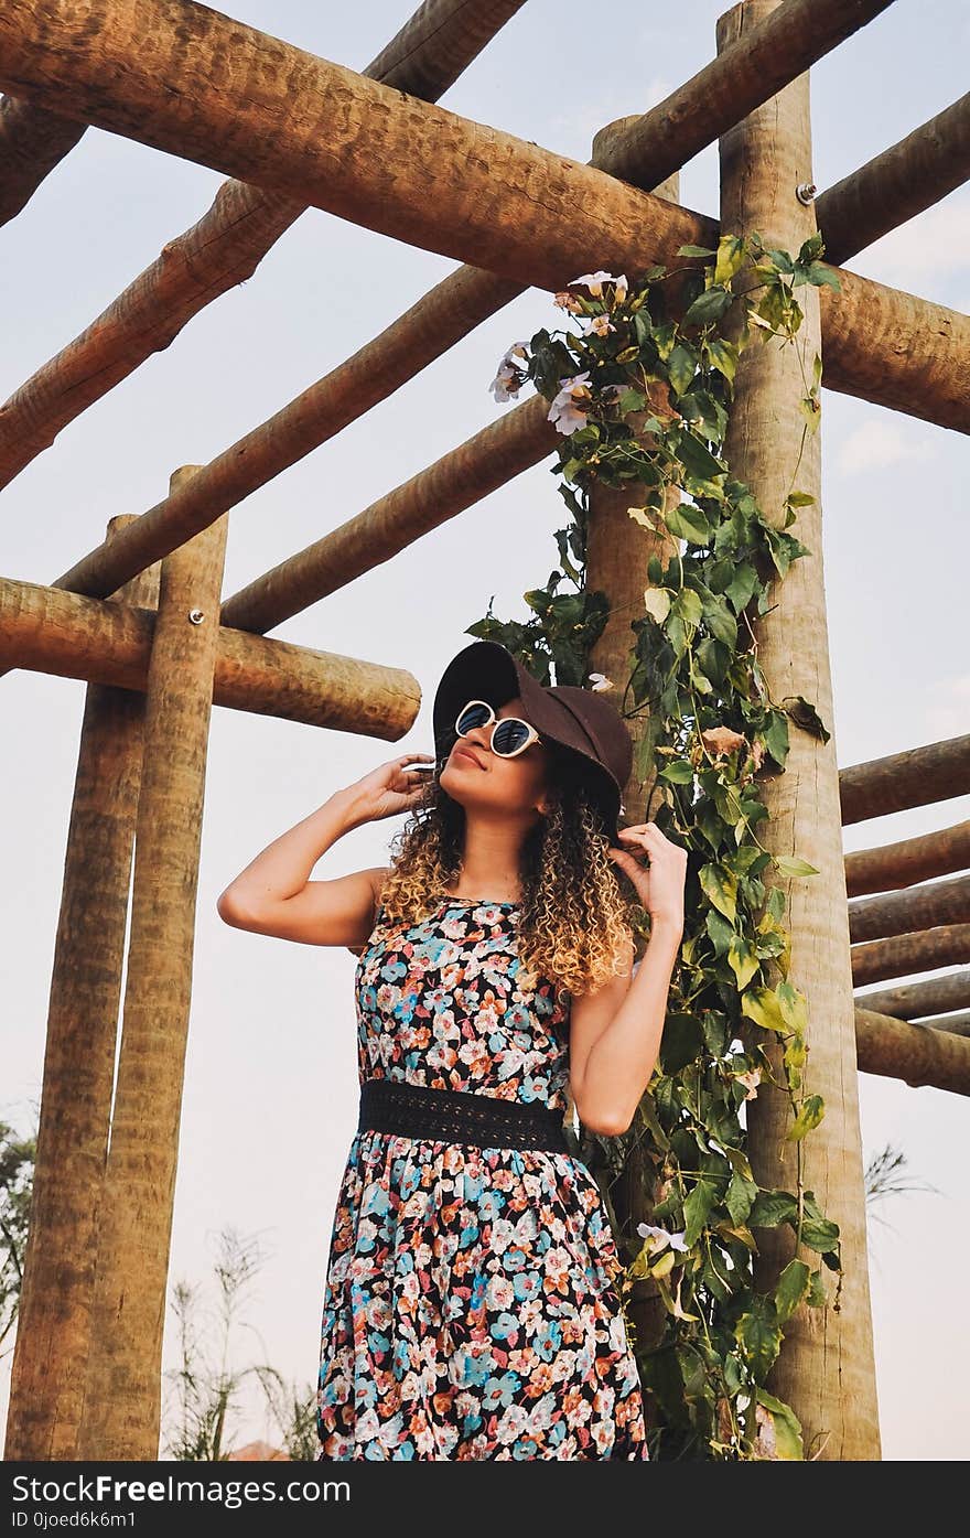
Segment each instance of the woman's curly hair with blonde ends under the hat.
[[[518,957],[526,972],[549,978],[558,995],[580,995],[627,970],[638,900],[621,886],[603,814],[576,757],[555,743],[546,746],[547,814],[520,852]],[[420,923],[460,880],[464,807],[443,789],[438,772],[390,843],[381,904],[392,923]]]

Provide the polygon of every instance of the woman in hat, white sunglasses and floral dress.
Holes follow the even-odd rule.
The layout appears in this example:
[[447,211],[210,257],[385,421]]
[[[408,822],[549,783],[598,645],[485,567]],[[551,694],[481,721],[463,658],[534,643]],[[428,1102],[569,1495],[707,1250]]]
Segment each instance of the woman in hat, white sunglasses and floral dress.
[[[223,892],[243,929],[347,946],[360,1121],[323,1306],[321,1460],[647,1458],[596,1181],[656,1061],[686,851],[616,831],[615,707],[543,687],[497,641],[446,667],[429,754],[338,791]],[[309,881],[347,829],[412,812],[390,866]],[[646,857],[647,864],[641,863]],[[633,967],[627,898],[650,912]]]

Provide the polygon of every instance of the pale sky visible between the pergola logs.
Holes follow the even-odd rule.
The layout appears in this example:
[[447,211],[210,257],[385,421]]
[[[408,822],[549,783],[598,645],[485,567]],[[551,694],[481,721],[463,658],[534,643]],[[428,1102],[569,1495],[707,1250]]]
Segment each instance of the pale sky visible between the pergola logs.
[[[404,0],[318,6],[235,0],[231,12],[363,69],[409,15]],[[715,51],[718,0],[690,6],[530,0],[443,98],[463,117],[587,160],[596,128],[644,111]],[[609,25],[604,22],[609,18]],[[815,181],[862,165],[965,91],[970,12],[955,0],[895,5],[813,72]],[[75,337],[209,208],[221,177],[89,129],[2,232],[0,400]],[[710,146],[681,198],[716,215]],[[598,266],[590,251],[590,266]],[[970,194],[849,263],[965,309]],[[370,340],[453,268],[450,258],[318,211],[300,217],[254,277],[203,311],[161,354],[66,428],[3,492],[8,577],[46,583],[98,544],[111,517],[145,512],[180,464],[203,464]],[[532,291],[409,386],[301,460],[231,517],[226,594],[335,528],[507,409],[487,391],[515,340],[560,323]],[[825,391],[824,568],[838,763],[970,731],[965,640],[967,440]],[[237,1335],[235,1363],[274,1363],[315,1383],[334,1203],[357,1120],[354,957],[244,934],[215,912],[223,887],[334,791],[406,751],[429,751],[444,664],[495,595],[555,564],[563,503],[552,458],[274,635],[409,669],[423,691],[400,741],[215,709],[203,820],[171,1281],[209,1284],[217,1235],[258,1235],[269,1255]],[[922,532],[921,532],[922,531]],[[916,538],[919,534],[919,538]],[[513,558],[510,558],[513,552]],[[85,687],[14,672],[5,695],[0,892],[0,1115],[28,1130],[45,1023]],[[845,849],[970,815],[970,797],[849,827]],[[400,818],[360,827],[320,860],[329,878],[384,863]],[[809,997],[810,997],[810,983]],[[904,1150],[935,1190],[896,1197],[870,1224],[870,1278],[885,1458],[965,1458],[970,1333],[950,1320],[970,1267],[965,1098],[859,1077],[865,1155]],[[938,1278],[938,1280],[933,1280]],[[932,1293],[933,1303],[928,1304]],[[215,1303],[215,1295],[211,1292]],[[175,1364],[169,1315],[166,1366]],[[255,1332],[255,1333],[254,1333]],[[9,1355],[0,1363],[6,1415]],[[237,1443],[274,1432],[251,1406]]]

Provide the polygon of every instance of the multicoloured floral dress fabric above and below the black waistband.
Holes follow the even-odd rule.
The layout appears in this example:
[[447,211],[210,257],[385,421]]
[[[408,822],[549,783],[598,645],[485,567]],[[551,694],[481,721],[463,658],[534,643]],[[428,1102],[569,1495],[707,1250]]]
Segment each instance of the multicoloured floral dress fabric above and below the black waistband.
[[[523,970],[518,904],[443,897],[355,974],[366,1078],[569,1107],[569,995]],[[355,1132],[327,1261],[318,1460],[636,1458],[623,1263],[572,1154]]]

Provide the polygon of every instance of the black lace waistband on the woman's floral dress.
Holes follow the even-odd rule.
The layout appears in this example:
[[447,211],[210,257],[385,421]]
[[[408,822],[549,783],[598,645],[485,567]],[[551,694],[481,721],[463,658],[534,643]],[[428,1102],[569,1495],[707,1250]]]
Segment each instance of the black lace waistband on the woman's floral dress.
[[360,1086],[358,1132],[390,1132],[477,1147],[544,1149],[569,1154],[564,1112],[541,1101],[500,1100],[470,1090],[429,1089],[392,1078]]

